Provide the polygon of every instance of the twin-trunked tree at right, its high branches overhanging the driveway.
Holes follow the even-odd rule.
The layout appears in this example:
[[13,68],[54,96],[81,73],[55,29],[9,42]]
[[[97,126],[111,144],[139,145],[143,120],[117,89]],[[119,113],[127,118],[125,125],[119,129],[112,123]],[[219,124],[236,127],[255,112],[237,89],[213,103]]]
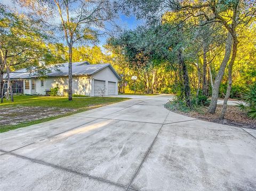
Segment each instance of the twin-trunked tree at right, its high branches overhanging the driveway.
[[[153,23],[162,18],[166,12],[176,15],[179,14],[181,24],[186,20],[193,20],[194,25],[203,26],[204,24],[219,22],[222,26],[228,31],[226,45],[226,54],[222,60],[220,70],[218,75],[215,78],[213,89],[212,89],[212,99],[209,106],[209,113],[215,113],[217,106],[217,99],[219,94],[220,83],[225,72],[225,68],[229,61],[229,50],[230,45],[232,47],[232,57],[229,63],[229,85],[227,88],[226,98],[223,106],[223,113],[225,113],[225,105],[227,105],[227,99],[230,94],[231,89],[231,73],[233,68],[233,63],[236,59],[237,52],[237,26],[239,24],[250,24],[255,18],[256,15],[256,6],[253,1],[242,1],[242,0],[210,0],[210,1],[193,1],[193,0],[183,0],[183,1],[168,1],[168,0],[159,0],[159,1],[137,1],[137,0],[124,0],[125,5],[127,6],[126,11],[129,12],[132,10],[138,16],[138,18],[145,18],[147,22]],[[120,3],[120,6],[124,8],[123,3]],[[133,9],[131,9],[133,8]],[[195,20],[199,18],[200,21]],[[174,21],[175,22],[175,21]],[[233,44],[233,45],[232,45]],[[222,114],[223,116],[223,114]]]

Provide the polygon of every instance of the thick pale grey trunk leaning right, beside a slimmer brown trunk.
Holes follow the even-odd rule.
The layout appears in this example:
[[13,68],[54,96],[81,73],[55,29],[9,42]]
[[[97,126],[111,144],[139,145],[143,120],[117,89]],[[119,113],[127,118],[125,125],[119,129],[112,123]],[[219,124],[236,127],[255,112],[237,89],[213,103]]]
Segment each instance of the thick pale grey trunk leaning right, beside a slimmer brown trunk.
[[221,80],[223,78],[225,68],[227,66],[227,63],[228,63],[228,60],[229,60],[229,57],[230,57],[232,43],[233,43],[232,36],[228,32],[228,37],[227,37],[227,40],[226,40],[226,47],[225,47],[225,56],[222,60],[219,72],[218,72],[218,74],[217,74],[217,76],[214,80],[214,85],[213,85],[213,88],[212,88],[212,98],[211,98],[211,103],[210,103],[210,106],[209,106],[209,109],[208,109],[208,112],[212,113],[212,114],[215,113],[215,110],[216,110],[216,107],[217,107],[220,83],[221,83]]

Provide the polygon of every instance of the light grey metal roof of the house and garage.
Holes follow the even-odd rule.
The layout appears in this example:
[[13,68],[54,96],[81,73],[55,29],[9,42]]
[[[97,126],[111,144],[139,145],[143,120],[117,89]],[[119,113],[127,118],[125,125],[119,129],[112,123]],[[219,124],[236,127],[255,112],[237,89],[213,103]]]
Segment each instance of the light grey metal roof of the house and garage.
[[[111,66],[111,64],[90,64],[87,61],[84,62],[73,62],[72,63],[72,74],[73,76],[91,76],[94,73],[99,72],[100,70],[109,67],[116,75],[118,79],[120,77],[116,73],[115,69]],[[47,77],[54,76],[68,76],[68,63],[62,63],[57,65],[52,65],[48,67],[51,72],[46,73]],[[28,72],[26,69],[16,70],[14,72],[10,72],[11,79],[26,79],[26,78],[36,78],[39,75],[36,72]],[[4,76],[6,79],[6,74]]]

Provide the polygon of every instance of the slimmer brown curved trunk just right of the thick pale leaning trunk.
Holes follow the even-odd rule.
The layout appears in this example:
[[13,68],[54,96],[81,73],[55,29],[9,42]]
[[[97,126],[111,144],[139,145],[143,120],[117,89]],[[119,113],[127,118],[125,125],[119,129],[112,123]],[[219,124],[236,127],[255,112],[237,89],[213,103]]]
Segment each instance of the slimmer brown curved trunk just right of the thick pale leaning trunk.
[[230,92],[231,92],[231,88],[232,88],[232,70],[233,70],[233,65],[234,65],[235,59],[236,59],[237,44],[238,44],[238,41],[237,41],[237,39],[235,39],[234,44],[233,44],[232,57],[231,57],[229,65],[228,65],[228,86],[227,86],[227,92],[226,92],[223,106],[222,106],[222,112],[221,112],[222,119],[224,119],[226,111],[227,111],[228,98],[230,96]]

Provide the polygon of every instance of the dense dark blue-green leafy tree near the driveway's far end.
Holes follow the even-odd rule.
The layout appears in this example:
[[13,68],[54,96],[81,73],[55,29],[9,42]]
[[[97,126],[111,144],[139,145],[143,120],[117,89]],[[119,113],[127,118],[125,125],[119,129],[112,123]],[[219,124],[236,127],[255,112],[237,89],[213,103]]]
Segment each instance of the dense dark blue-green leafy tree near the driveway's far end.
[[[189,76],[185,56],[189,38],[185,38],[182,27],[179,30],[172,30],[174,26],[163,23],[150,28],[138,28],[135,31],[126,31],[120,37],[112,40],[113,45],[123,48],[123,53],[132,67],[138,69],[150,69],[151,71],[151,92],[157,89],[157,69],[159,65],[177,65],[179,68],[179,79],[181,91],[179,96],[185,99],[186,104],[191,106]],[[164,38],[163,35],[165,34]],[[188,37],[188,36],[186,36]],[[146,87],[149,87],[147,72]],[[147,91],[148,92],[148,91]]]

